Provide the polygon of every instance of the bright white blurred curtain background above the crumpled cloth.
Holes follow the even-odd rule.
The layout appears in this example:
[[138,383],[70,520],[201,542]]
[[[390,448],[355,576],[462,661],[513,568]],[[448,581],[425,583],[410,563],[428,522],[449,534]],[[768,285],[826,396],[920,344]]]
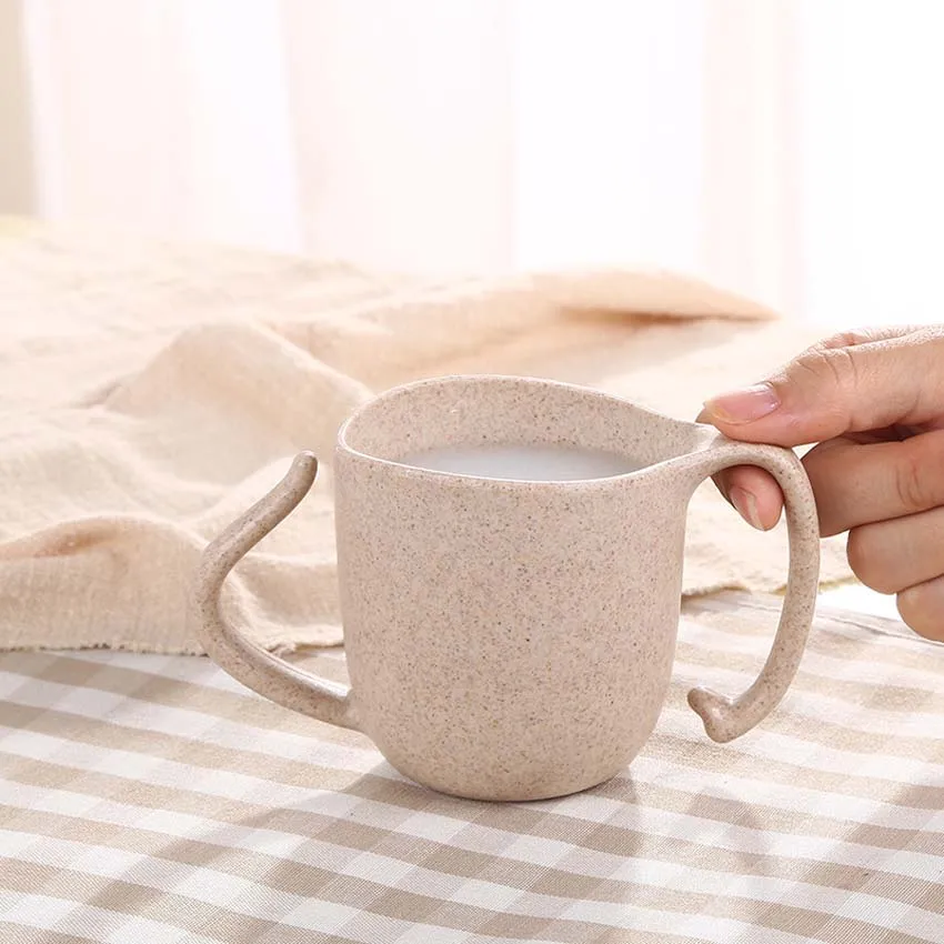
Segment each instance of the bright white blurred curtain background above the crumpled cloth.
[[935,321],[941,0],[0,0],[0,212]]

